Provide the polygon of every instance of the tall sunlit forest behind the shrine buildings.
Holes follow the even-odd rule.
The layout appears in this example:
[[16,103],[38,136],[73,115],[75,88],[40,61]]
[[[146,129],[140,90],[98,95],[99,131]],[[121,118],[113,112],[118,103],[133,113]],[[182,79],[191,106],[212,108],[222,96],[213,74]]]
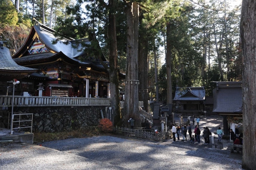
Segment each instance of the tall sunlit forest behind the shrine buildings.
[[[166,58],[170,55],[173,93],[176,87],[204,86],[210,96],[213,81],[241,81],[241,4],[233,6],[232,0],[136,2],[140,4],[140,47],[146,51],[148,64],[145,70],[148,99],[166,101]],[[5,44],[14,54],[25,41],[35,18],[74,39],[96,37],[108,58],[110,9],[106,5],[109,2],[103,0],[0,0],[0,40],[7,41]],[[126,73],[126,3],[116,1],[115,7],[118,68]],[[141,60],[139,53],[139,65]]]

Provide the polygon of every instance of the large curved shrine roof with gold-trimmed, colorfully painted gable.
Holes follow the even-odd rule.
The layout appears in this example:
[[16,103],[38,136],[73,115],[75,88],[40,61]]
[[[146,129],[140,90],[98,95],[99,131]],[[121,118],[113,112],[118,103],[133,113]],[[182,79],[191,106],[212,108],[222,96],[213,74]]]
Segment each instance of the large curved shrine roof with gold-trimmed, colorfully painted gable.
[[[79,40],[66,38],[59,40],[60,37],[56,37],[54,35],[55,32],[55,30],[37,22],[31,28],[27,40],[12,58],[18,64],[32,66],[35,63],[46,62],[50,59],[57,59],[58,57],[58,59],[61,58],[61,60],[66,60],[68,63],[84,65],[94,68],[96,71],[105,70],[96,57],[85,57],[84,61],[78,59],[78,57],[87,55],[84,50],[86,48],[84,45],[90,44],[87,38]],[[54,41],[56,43],[53,43]],[[103,54],[101,55],[101,60],[108,64]]]

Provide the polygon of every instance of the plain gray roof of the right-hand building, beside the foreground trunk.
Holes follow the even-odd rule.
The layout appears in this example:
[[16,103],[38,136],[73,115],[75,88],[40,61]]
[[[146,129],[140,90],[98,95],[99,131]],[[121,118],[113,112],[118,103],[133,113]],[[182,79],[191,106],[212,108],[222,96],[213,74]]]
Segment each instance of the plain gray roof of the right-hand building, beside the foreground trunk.
[[213,90],[213,112],[241,113],[242,112],[242,82],[216,82]]

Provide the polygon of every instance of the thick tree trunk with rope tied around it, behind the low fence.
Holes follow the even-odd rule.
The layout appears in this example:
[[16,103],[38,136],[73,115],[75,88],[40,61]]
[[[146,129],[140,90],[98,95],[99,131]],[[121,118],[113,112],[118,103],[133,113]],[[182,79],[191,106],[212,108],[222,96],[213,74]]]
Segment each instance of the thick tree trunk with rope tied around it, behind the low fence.
[[128,119],[135,119],[134,127],[141,127],[139,115],[138,80],[138,34],[139,4],[127,2],[127,63],[125,77],[125,102],[122,112],[123,126],[128,127]]

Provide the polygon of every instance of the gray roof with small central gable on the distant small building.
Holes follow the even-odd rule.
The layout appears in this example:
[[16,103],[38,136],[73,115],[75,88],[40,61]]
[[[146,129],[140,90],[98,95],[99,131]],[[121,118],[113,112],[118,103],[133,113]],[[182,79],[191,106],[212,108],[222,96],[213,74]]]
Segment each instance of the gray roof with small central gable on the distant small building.
[[177,87],[174,100],[186,100],[186,101],[204,101],[205,89],[204,87]]

